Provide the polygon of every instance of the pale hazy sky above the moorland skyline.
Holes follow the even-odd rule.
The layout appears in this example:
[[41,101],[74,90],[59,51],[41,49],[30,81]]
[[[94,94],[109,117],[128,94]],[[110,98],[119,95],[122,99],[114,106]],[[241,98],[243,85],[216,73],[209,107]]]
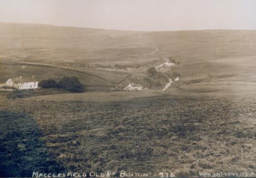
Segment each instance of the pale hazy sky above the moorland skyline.
[[138,31],[256,30],[256,0],[0,0],[0,21]]

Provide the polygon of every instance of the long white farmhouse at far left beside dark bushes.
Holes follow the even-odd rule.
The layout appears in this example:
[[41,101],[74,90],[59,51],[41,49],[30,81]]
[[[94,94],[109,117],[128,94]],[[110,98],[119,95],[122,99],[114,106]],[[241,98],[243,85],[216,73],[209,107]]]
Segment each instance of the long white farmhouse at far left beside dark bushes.
[[6,85],[18,90],[34,89],[38,88],[38,81],[34,77],[10,78],[6,81]]

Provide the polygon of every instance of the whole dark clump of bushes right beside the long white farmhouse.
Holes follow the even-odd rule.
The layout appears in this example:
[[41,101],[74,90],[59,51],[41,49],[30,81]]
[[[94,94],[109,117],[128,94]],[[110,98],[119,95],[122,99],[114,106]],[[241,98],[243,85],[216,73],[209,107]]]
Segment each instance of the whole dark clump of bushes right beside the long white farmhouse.
[[84,91],[83,85],[79,81],[78,77],[64,77],[56,82],[53,79],[42,80],[39,84],[41,88],[62,88],[69,92],[77,93]]

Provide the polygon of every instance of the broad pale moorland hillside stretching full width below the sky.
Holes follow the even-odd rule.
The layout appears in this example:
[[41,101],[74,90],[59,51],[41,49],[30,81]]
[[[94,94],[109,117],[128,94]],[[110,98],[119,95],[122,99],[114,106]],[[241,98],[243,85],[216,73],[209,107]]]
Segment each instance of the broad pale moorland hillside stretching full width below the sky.
[[256,56],[256,31],[132,32],[17,23],[0,28],[2,60],[140,64],[169,56],[181,63]]

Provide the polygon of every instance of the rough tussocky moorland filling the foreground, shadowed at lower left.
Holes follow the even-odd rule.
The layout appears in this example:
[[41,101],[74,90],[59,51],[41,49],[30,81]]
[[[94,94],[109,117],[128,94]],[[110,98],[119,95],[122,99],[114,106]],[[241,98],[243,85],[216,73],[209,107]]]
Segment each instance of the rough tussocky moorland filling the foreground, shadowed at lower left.
[[255,170],[255,98],[55,96],[1,104],[2,175]]

